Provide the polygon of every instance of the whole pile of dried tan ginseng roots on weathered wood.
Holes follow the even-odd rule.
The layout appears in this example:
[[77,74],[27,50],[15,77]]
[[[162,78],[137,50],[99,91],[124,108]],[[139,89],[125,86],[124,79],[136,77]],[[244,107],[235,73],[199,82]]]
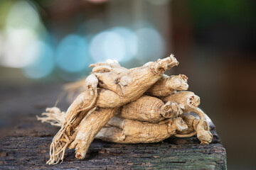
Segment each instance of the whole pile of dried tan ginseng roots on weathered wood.
[[150,143],[197,134],[201,144],[209,144],[213,135],[206,114],[198,108],[200,98],[187,91],[188,78],[164,74],[176,65],[174,55],[132,69],[113,60],[91,64],[92,73],[85,80],[64,86],[69,100],[79,94],[68,110],[46,108],[43,117],[38,117],[42,123],[60,127],[47,164],[63,162],[67,148],[75,149],[75,157],[84,159],[95,138]]

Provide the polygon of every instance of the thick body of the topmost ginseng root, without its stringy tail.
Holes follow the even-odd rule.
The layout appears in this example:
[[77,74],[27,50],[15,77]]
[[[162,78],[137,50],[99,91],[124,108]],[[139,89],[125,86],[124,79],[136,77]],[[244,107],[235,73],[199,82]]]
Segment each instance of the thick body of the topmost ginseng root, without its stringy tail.
[[127,69],[120,74],[114,72],[95,73],[102,88],[97,96],[96,105],[101,108],[116,108],[136,101],[147,89],[156,83],[166,69],[178,65],[171,55],[143,67]]

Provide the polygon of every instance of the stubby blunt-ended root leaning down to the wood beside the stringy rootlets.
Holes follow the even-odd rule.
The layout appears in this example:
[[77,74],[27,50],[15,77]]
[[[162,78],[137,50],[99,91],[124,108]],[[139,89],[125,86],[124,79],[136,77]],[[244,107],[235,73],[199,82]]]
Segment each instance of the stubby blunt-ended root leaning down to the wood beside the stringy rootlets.
[[89,148],[95,135],[104,125],[112,118],[117,108],[97,108],[90,115],[82,120],[77,128],[75,140],[70,145],[70,148],[75,148],[75,157],[84,159],[87,149]]

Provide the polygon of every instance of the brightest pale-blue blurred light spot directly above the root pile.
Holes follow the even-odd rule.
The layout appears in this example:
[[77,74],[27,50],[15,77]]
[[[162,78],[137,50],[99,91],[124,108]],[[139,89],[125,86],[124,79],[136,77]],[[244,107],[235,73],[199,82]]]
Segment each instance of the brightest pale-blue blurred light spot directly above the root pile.
[[138,53],[137,35],[128,28],[114,27],[105,30],[92,38],[90,56],[95,62],[107,59],[127,62]]

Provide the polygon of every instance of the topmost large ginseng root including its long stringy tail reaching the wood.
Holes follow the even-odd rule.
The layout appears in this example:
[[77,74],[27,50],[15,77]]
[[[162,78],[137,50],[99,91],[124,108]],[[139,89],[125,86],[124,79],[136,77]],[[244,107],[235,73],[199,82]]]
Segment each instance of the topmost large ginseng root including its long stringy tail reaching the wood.
[[[77,132],[75,128],[85,115],[92,111],[92,108],[97,106],[100,108],[117,108],[130,101],[137,100],[162,77],[166,69],[171,69],[177,64],[176,58],[171,55],[163,60],[145,64],[143,67],[124,70],[120,74],[105,72],[91,74],[87,77],[85,80],[87,90],[82,92],[68,108],[65,122],[53,137],[53,142],[50,145],[50,159],[47,163],[57,164],[60,160],[63,161],[65,149],[75,140]],[[113,74],[112,77],[110,74]],[[136,78],[134,79],[134,77]],[[102,85],[105,89],[99,89],[98,91],[97,85]],[[100,130],[100,127],[97,128]],[[92,128],[88,130],[92,132]],[[92,134],[90,132],[88,132],[88,135]]]

